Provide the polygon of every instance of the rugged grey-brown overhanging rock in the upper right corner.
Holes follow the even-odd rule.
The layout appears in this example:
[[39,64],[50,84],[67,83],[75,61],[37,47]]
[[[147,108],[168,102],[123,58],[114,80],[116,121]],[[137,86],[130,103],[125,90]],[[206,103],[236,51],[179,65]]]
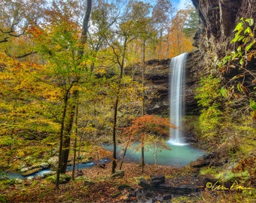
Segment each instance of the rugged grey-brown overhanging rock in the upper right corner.
[[[254,0],[192,0],[197,8],[201,29],[195,36],[195,46],[207,61],[220,59],[230,50],[233,29],[243,17],[256,19]],[[211,65],[210,65],[211,66]]]

